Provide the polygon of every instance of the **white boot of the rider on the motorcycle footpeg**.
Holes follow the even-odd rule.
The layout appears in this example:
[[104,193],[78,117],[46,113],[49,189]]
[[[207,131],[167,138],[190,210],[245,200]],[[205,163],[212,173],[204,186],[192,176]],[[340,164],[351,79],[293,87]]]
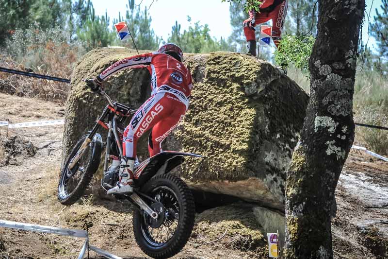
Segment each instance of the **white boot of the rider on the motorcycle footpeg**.
[[122,158],[120,164],[120,182],[117,186],[109,189],[107,194],[131,194],[133,192],[133,168],[135,160]]

